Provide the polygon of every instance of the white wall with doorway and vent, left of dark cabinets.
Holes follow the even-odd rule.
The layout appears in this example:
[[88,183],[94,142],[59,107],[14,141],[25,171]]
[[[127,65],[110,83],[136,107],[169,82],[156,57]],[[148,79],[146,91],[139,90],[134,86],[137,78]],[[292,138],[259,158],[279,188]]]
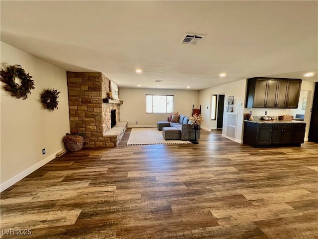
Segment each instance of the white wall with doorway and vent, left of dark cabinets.
[[[238,122],[236,129],[235,141],[241,143],[242,142],[242,128],[243,128],[243,113],[244,113],[244,102],[245,102],[245,93],[246,92],[246,79],[223,84],[220,86],[210,87],[204,90],[201,90],[199,93],[199,105],[202,105],[202,116],[204,118],[204,122],[201,127],[207,130],[211,130],[211,128],[216,127],[216,120],[211,120],[211,95],[213,94],[224,94],[225,95],[225,106],[224,109],[226,111],[227,107],[227,99],[229,96],[234,96],[234,112],[238,114]],[[239,103],[242,103],[239,106]],[[209,109],[208,109],[209,107]],[[223,131],[222,135],[225,136],[227,134],[227,113],[224,114],[223,118]]]

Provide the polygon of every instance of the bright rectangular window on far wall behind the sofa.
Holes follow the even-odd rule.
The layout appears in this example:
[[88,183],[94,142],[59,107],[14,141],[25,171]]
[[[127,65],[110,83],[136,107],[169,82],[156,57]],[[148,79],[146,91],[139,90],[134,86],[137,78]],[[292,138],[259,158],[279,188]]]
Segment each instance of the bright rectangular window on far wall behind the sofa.
[[146,113],[173,112],[173,96],[146,95]]

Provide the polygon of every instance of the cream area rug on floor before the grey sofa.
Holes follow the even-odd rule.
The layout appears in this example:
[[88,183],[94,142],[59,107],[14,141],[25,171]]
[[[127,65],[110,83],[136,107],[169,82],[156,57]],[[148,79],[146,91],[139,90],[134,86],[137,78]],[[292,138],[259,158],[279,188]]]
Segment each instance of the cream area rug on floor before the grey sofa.
[[162,131],[157,128],[132,128],[127,145],[146,145],[146,144],[185,144],[191,143],[187,140],[169,139],[165,140]]

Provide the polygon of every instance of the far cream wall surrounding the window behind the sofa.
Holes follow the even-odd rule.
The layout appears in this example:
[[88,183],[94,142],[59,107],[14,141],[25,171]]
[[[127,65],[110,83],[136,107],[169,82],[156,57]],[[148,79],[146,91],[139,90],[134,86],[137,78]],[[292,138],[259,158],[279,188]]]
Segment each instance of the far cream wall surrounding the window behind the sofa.
[[[199,109],[199,91],[120,88],[119,98],[124,101],[120,106],[120,121],[128,121],[128,127],[157,127],[157,121],[166,120],[169,114],[146,114],[146,94],[173,95],[174,111],[191,116],[192,106]],[[135,122],[138,121],[138,124]]]

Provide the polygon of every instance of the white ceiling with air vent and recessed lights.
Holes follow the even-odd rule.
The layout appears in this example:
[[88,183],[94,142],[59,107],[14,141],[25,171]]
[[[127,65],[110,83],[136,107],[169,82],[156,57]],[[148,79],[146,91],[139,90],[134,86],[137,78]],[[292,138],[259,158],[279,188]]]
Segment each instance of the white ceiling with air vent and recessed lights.
[[[186,32],[206,37],[181,44]],[[1,41],[68,71],[102,72],[119,87],[318,81],[318,1],[1,0]]]

